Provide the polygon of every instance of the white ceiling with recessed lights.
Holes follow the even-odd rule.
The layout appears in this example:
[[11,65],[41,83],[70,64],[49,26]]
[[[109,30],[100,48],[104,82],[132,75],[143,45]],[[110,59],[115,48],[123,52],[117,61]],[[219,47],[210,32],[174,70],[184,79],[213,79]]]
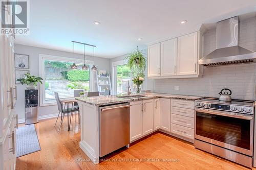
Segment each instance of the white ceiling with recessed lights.
[[[232,16],[256,11],[255,0],[33,0],[30,35],[15,42],[73,52],[72,40],[94,44],[95,56],[114,58],[137,45],[197,31]],[[188,22],[181,25],[180,21]],[[94,21],[101,22],[94,25]],[[138,40],[138,38],[143,38]],[[76,53],[83,53],[77,45]],[[87,55],[93,50],[87,47]]]

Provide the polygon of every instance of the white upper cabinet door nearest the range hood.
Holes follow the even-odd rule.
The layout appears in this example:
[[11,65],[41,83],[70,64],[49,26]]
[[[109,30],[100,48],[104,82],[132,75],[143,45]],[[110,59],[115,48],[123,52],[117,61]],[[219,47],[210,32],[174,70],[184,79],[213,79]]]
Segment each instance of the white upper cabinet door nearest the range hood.
[[178,37],[178,75],[196,75],[198,64],[198,33]]

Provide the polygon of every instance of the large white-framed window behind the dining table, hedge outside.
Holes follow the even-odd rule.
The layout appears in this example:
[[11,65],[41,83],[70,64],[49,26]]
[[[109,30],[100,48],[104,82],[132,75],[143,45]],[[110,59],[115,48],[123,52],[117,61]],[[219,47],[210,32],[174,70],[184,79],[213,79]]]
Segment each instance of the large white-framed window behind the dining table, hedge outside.
[[82,70],[83,61],[76,60],[77,69],[72,70],[72,58],[41,55],[39,60],[40,76],[44,79],[40,88],[42,106],[56,103],[54,92],[60,99],[68,99],[74,97],[75,89],[92,89],[91,63],[87,64],[88,70]]

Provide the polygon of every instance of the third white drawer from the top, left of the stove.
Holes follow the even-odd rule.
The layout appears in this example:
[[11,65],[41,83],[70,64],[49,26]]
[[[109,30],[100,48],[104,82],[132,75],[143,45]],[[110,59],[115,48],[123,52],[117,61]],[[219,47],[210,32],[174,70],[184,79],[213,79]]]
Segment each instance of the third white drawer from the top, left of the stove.
[[185,126],[185,127],[194,129],[194,118],[192,118],[192,117],[171,114],[170,120],[173,124],[177,124],[177,125],[181,125],[181,126]]

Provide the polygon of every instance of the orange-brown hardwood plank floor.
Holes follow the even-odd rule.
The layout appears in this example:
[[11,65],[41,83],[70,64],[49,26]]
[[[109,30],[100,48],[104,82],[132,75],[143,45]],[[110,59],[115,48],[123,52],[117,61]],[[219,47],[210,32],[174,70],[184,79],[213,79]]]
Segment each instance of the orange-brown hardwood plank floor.
[[55,118],[35,124],[41,151],[17,158],[16,169],[248,169],[161,132],[136,141],[129,149],[122,148],[95,165],[79,148],[80,133],[74,118],[70,132],[67,122],[60,132],[54,123]]

